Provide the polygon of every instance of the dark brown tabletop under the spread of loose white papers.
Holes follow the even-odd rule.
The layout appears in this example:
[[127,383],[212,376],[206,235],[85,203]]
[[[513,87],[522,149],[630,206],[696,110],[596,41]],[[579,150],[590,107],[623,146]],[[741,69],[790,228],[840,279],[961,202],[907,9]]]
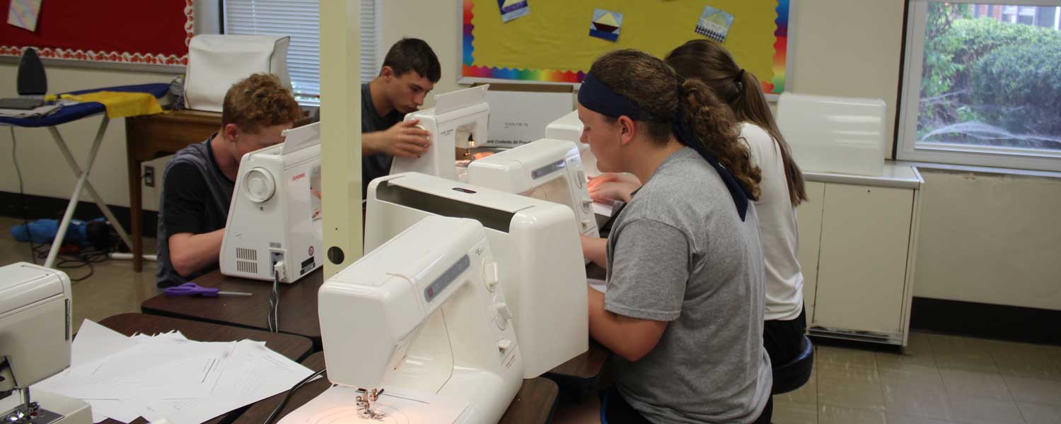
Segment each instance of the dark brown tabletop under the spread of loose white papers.
[[[207,300],[207,299],[201,299]],[[309,339],[290,334],[275,334],[228,325],[218,325],[206,322],[189,321],[144,314],[120,314],[100,321],[100,324],[110,330],[132,336],[136,333],[155,334],[173,330],[179,331],[185,337],[197,341],[238,341],[245,338],[265,341],[265,346],[277,353],[299,360],[311,352]],[[208,421],[209,424],[231,422],[245,408],[240,408]],[[118,421],[106,420],[104,423],[118,424]],[[131,424],[146,424],[147,420],[139,418]]]

